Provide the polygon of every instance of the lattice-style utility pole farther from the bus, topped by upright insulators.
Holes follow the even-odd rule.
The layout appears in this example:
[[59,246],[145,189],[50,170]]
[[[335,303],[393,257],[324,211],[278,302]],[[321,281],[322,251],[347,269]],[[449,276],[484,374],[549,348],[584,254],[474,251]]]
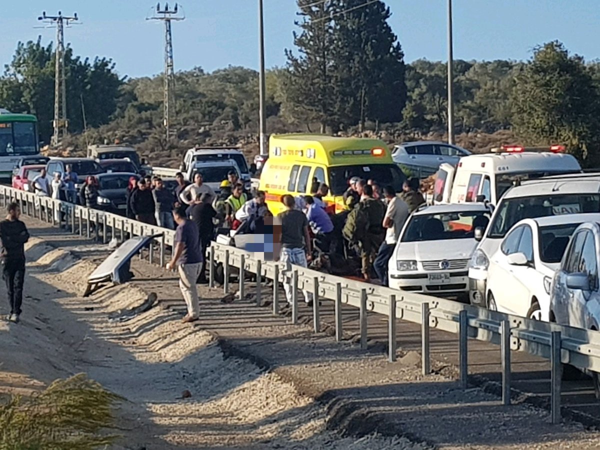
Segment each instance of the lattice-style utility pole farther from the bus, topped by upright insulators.
[[164,22],[164,98],[163,98],[163,125],[166,131],[167,141],[170,139],[171,118],[175,116],[175,70],[173,68],[173,35],[171,33],[172,20],[185,20],[185,15],[179,14],[179,5],[169,9],[165,3],[160,8],[156,5],[156,13],[146,20],[162,20]]

